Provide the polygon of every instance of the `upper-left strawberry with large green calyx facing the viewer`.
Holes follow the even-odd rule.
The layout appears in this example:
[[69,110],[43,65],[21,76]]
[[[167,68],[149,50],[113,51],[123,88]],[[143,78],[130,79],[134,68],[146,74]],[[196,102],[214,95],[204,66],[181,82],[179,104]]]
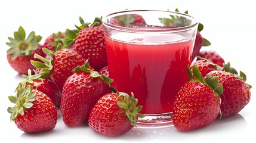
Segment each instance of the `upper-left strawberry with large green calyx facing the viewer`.
[[10,42],[7,45],[10,49],[7,50],[7,60],[10,66],[19,74],[27,74],[27,70],[35,69],[30,63],[30,60],[37,60],[34,54],[44,56],[42,45],[39,44],[42,37],[36,36],[35,32],[31,32],[26,38],[26,32],[23,27],[19,27],[17,32],[14,32],[14,38],[8,37]]

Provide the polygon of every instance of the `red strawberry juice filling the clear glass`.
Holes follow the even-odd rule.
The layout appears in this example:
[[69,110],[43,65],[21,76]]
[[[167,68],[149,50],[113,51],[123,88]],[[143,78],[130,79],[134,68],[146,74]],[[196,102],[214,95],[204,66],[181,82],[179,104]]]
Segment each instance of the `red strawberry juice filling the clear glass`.
[[111,85],[119,92],[133,92],[143,106],[140,113],[171,113],[178,89],[188,80],[186,67],[195,38],[178,42],[169,38],[175,41],[180,35],[129,39],[127,33],[120,32],[105,38],[109,74],[114,79]]

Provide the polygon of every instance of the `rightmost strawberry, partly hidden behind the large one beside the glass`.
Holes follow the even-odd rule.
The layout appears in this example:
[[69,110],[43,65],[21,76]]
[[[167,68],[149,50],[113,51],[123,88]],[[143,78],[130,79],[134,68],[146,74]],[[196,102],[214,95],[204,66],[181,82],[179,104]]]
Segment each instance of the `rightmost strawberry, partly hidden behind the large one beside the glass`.
[[223,86],[223,94],[221,98],[220,117],[228,117],[239,113],[250,101],[252,88],[251,85],[245,83],[246,75],[238,72],[230,67],[230,63],[224,64],[225,71],[214,70],[208,75],[218,77],[218,85]]

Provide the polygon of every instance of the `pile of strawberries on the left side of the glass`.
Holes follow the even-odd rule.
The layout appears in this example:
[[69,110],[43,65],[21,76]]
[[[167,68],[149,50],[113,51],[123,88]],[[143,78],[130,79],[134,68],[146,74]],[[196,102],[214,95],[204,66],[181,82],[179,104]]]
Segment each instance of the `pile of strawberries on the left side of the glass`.
[[144,116],[132,93],[118,92],[110,85],[101,18],[92,24],[81,17],[80,21],[75,30],[48,36],[44,45],[35,32],[26,39],[23,27],[9,38],[8,61],[24,77],[16,96],[9,97],[16,105],[8,108],[20,130],[54,129],[57,107],[66,126],[88,122],[92,130],[107,136],[128,132]]

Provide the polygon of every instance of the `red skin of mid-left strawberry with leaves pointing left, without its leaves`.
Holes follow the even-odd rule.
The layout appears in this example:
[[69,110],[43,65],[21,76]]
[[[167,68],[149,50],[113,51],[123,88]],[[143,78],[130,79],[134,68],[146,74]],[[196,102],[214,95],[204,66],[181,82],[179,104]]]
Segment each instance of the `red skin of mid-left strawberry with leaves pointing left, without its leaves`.
[[50,77],[56,83],[58,89],[62,91],[64,83],[74,73],[75,67],[84,64],[85,59],[78,52],[67,48],[60,49],[54,52],[53,69]]

